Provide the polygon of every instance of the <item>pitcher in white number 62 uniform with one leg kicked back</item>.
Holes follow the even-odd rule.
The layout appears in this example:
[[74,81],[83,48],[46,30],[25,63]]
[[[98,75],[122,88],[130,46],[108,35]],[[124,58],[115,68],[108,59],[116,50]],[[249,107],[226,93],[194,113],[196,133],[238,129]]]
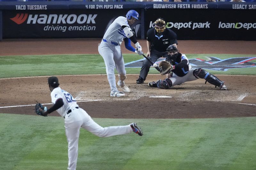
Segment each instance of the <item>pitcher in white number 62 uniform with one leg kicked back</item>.
[[[44,107],[44,110],[40,108],[40,113],[37,114],[47,116],[47,114],[57,110],[57,112],[64,118],[66,136],[68,140],[68,169],[76,169],[78,139],[81,127],[98,137],[122,135],[132,131],[140,136],[143,135],[141,129],[134,122],[126,126],[101,127],[92,120],[91,116],[88,115],[84,109],[77,105],[76,100],[70,93],[59,87],[59,80],[57,77],[49,77],[48,84],[51,91],[53,106],[48,110],[46,107]],[[38,109],[36,109],[36,111],[37,110]]]

